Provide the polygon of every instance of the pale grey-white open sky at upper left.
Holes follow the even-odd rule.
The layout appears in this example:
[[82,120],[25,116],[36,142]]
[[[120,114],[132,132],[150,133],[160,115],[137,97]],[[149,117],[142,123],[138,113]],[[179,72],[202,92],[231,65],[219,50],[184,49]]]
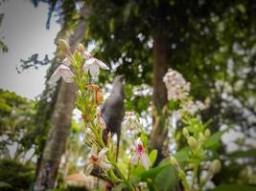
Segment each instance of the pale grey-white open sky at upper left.
[[34,98],[44,89],[44,76],[48,66],[38,70],[29,69],[17,74],[15,67],[20,59],[27,59],[34,53],[40,58],[48,54],[53,57],[56,46],[54,39],[60,27],[52,19],[51,29],[46,30],[48,5],[41,3],[37,8],[30,1],[9,0],[0,6],[0,13],[5,13],[0,38],[9,48],[8,53],[0,52],[0,88],[15,92],[20,96]]

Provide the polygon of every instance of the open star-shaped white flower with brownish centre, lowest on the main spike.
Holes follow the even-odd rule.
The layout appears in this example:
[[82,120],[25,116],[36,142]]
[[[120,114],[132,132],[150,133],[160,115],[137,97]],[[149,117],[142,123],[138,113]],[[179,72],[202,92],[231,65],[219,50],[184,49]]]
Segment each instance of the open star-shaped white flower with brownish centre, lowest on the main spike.
[[85,171],[85,175],[88,176],[91,174],[94,166],[99,166],[103,168],[105,171],[108,171],[111,168],[111,164],[105,162],[105,153],[108,151],[108,148],[103,148],[99,154],[97,154],[97,146],[95,144],[92,145],[91,152],[89,154],[90,159],[88,159],[87,168]]

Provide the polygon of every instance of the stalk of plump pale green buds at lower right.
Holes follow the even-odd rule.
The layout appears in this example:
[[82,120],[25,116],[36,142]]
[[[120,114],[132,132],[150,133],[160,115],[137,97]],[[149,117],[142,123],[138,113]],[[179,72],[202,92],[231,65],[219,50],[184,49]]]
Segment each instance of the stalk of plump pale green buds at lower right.
[[[190,159],[190,168],[192,168],[192,174],[186,176],[185,168],[179,165],[175,157],[171,157],[171,164],[175,167],[175,170],[178,173],[178,177],[181,180],[185,190],[201,191],[203,186],[208,180],[211,180],[215,174],[218,174],[221,171],[221,161],[219,159],[214,159],[212,161],[206,161],[208,158],[208,148],[205,147],[207,139],[210,138],[211,132],[209,129],[205,129],[204,124],[198,120],[198,118],[187,118],[184,120],[186,127],[183,128],[182,134],[187,140],[188,149],[189,149],[189,159]],[[209,165],[205,165],[209,163]],[[203,175],[203,171],[199,169],[202,166],[208,166],[208,172],[206,176]],[[188,178],[192,178],[188,180]],[[198,181],[200,178],[200,181]]]

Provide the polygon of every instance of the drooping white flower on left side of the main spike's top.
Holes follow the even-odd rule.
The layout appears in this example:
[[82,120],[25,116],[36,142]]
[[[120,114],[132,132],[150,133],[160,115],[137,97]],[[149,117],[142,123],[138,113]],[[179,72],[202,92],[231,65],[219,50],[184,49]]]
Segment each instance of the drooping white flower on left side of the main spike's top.
[[50,78],[50,83],[51,84],[56,83],[60,77],[62,77],[66,83],[71,83],[73,82],[73,79],[72,79],[73,76],[74,74],[71,72],[70,68],[68,68],[64,64],[60,64],[56,69],[56,71],[54,72],[54,74],[52,74]]

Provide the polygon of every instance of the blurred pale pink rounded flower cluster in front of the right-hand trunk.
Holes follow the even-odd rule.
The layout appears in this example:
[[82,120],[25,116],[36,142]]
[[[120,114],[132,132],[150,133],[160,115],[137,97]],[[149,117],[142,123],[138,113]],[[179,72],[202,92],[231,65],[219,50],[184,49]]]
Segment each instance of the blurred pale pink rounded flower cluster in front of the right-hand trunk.
[[168,100],[182,100],[189,95],[190,83],[175,70],[169,69],[163,77],[163,82],[167,89]]

